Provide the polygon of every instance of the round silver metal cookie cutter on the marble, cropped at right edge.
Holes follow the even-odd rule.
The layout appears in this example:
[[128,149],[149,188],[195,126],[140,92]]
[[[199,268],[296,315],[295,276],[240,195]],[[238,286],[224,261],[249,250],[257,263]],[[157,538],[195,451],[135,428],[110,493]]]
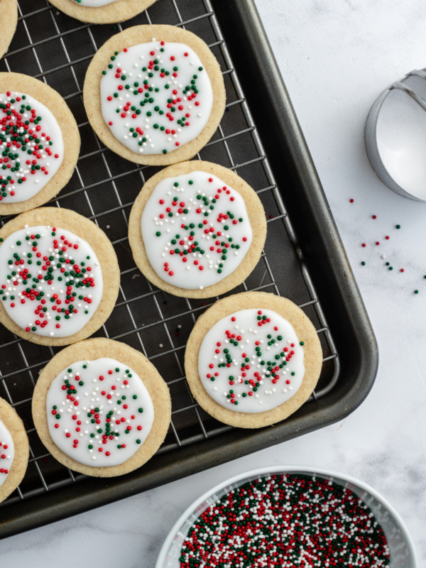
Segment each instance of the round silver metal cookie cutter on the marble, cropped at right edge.
[[368,160],[391,190],[426,201],[426,70],[414,70],[376,99],[366,121]]

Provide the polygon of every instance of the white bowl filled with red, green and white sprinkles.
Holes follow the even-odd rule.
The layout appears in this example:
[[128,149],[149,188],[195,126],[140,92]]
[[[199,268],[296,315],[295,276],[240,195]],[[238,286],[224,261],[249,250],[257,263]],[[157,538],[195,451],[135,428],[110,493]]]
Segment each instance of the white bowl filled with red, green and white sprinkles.
[[[297,501],[300,496],[305,501]],[[344,496],[340,507],[339,496]],[[236,504],[230,498],[244,498],[234,528],[223,522],[225,508]],[[280,542],[287,545],[284,555]],[[365,543],[364,550],[360,542]],[[324,552],[326,548],[332,553]],[[155,568],[368,565],[417,568],[413,542],[391,503],[345,474],[309,466],[268,466],[231,477],[192,503],[170,530]]]

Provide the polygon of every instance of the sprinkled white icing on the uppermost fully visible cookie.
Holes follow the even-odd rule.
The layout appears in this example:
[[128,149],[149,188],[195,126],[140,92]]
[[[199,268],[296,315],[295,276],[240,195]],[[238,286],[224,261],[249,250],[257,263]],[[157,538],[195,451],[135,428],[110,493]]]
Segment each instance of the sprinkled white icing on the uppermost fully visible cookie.
[[111,54],[101,80],[102,116],[137,154],[168,153],[194,140],[209,120],[212,84],[184,43],[155,41]]

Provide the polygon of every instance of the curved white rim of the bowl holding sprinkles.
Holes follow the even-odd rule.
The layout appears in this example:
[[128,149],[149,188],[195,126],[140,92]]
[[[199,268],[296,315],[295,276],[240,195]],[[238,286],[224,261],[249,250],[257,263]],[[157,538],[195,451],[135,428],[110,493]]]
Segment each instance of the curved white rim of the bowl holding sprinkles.
[[410,555],[413,557],[412,568],[417,568],[415,547],[413,544],[413,540],[410,536],[410,532],[408,532],[408,528],[406,527],[405,522],[403,521],[403,518],[400,516],[398,511],[395,510],[395,508],[393,508],[391,503],[389,503],[389,501],[385,497],[383,497],[381,493],[378,493],[376,489],[364,483],[364,481],[359,481],[359,479],[356,479],[353,476],[350,476],[348,474],[341,474],[338,471],[334,471],[333,469],[325,469],[323,467],[313,467],[313,466],[304,466],[304,465],[280,465],[280,464],[258,467],[256,469],[250,469],[249,471],[244,471],[241,474],[231,476],[228,479],[221,481],[221,483],[215,485],[208,491],[205,491],[202,494],[202,496],[195,499],[195,501],[193,501],[191,505],[185,509],[185,511],[182,513],[182,515],[180,515],[178,520],[170,529],[170,532],[168,533],[167,537],[165,538],[165,541],[163,542],[163,546],[161,547],[160,554],[158,555],[157,562],[155,563],[155,568],[164,568],[165,556],[180,526],[183,525],[183,523],[185,523],[185,520],[187,520],[187,518],[189,518],[189,516],[192,513],[194,513],[195,510],[197,510],[197,508],[200,507],[200,505],[202,505],[202,503],[204,503],[204,501],[207,501],[209,497],[214,495],[214,493],[221,491],[224,487],[234,484],[237,481],[241,481],[244,479],[247,479],[247,481],[249,481],[250,478],[256,477],[258,475],[264,475],[264,474],[280,475],[280,474],[289,474],[289,473],[300,473],[300,474],[306,473],[312,475],[317,474],[319,476],[329,476],[336,479],[340,479],[342,481],[347,481],[359,487],[360,489],[366,491],[367,493],[370,493],[371,496],[376,498],[376,500],[379,503],[381,503],[383,507],[385,507],[386,510],[388,510],[388,512],[391,513],[391,515],[393,516],[401,532],[403,532],[405,541],[407,542],[408,545],[408,549],[410,550]]

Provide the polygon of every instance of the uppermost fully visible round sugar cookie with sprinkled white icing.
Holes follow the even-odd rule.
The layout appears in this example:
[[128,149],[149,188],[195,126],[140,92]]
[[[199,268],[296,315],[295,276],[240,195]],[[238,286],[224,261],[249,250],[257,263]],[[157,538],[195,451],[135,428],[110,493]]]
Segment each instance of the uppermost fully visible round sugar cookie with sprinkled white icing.
[[134,26],[94,55],[83,88],[87,117],[126,160],[189,160],[212,138],[225,110],[219,63],[206,43],[175,26]]

